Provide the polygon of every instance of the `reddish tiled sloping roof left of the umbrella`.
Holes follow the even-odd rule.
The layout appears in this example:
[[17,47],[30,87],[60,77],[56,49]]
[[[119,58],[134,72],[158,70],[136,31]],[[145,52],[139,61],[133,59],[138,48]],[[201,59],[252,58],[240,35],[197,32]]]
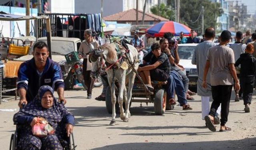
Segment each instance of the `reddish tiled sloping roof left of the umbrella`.
[[[142,20],[143,12],[138,10],[138,20]],[[118,12],[103,18],[105,21],[136,21],[136,9]],[[155,14],[145,13],[144,21],[169,21],[166,18],[157,16]]]

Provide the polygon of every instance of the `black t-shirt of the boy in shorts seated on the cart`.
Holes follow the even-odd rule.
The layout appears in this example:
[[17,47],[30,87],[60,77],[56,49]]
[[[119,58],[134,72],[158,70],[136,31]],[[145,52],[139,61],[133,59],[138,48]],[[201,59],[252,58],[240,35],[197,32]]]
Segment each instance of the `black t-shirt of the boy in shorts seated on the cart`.
[[161,55],[156,58],[156,56],[154,56],[154,54],[150,52],[143,58],[143,60],[145,60],[145,62],[148,64],[154,64],[155,62],[159,61],[161,62],[161,64],[157,67],[158,69],[164,70],[167,73],[169,73],[171,70],[171,65],[168,57],[164,53],[161,53]]

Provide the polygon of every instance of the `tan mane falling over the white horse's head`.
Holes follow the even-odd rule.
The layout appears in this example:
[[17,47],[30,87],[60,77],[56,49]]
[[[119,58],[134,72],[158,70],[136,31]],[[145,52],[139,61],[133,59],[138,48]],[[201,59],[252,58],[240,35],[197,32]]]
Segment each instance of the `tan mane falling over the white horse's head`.
[[116,49],[115,49],[115,44],[104,44],[100,46],[102,50],[107,50],[107,60],[109,61],[108,63],[114,63],[117,60],[117,54],[116,54]]

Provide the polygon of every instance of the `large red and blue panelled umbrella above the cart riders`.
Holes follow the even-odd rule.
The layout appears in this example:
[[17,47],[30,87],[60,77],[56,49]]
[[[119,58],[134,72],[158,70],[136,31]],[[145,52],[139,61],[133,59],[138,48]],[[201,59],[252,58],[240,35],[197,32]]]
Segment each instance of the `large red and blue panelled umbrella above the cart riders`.
[[174,21],[164,21],[155,24],[151,28],[148,28],[146,30],[146,33],[154,37],[163,37],[164,33],[166,32],[171,32],[175,36],[178,36],[180,32],[184,32],[185,36],[189,36],[190,30],[191,29],[188,26],[185,26],[184,24],[180,24]]

